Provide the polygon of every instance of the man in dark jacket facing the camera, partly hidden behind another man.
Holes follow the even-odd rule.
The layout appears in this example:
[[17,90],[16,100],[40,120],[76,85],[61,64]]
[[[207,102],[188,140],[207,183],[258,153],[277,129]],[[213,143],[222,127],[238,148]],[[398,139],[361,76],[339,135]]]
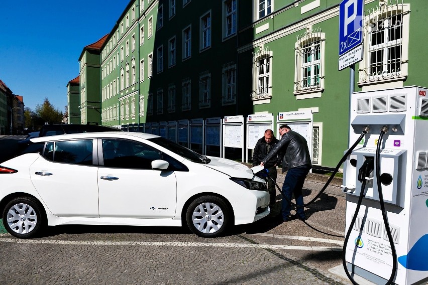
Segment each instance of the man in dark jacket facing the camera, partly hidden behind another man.
[[[260,138],[253,151],[253,166],[260,165],[262,160],[270,153],[278,143],[278,139],[273,135],[273,130],[267,129],[265,130],[265,134],[262,138]],[[269,171],[269,176],[276,181],[276,166],[281,163],[282,156],[275,155],[269,161],[265,163],[265,168]],[[276,189],[275,183],[272,180],[268,180],[268,191],[270,195],[270,205],[272,206],[275,203],[276,199]]]

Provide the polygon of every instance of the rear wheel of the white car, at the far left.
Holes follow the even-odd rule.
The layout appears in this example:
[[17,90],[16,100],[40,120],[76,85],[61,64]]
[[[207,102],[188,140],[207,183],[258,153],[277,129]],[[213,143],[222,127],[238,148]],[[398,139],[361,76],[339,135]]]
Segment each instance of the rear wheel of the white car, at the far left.
[[36,236],[46,223],[38,201],[31,197],[12,199],[3,211],[6,230],[18,238]]

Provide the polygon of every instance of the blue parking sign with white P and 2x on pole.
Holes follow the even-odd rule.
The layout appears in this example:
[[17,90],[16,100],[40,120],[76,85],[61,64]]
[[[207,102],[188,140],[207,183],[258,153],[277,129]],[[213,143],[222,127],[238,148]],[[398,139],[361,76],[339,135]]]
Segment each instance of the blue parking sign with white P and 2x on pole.
[[363,42],[364,0],[343,0],[339,6],[339,56]]

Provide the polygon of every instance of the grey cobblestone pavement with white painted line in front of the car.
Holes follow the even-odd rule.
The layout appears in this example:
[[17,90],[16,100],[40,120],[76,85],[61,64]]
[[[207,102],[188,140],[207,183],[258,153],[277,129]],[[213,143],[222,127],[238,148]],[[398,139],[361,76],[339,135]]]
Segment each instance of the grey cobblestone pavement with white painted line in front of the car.
[[[306,181],[305,202],[323,185]],[[329,186],[305,209],[305,222],[278,221],[280,199],[267,218],[213,239],[170,227],[58,226],[31,240],[0,234],[0,284],[349,283],[328,271],[341,264],[341,189]]]

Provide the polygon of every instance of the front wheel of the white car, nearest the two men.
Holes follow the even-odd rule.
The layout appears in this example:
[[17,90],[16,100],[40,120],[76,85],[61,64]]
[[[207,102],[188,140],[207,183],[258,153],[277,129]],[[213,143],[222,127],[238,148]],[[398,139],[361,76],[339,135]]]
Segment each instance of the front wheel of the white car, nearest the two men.
[[217,237],[233,223],[233,214],[224,199],[202,196],[190,203],[186,212],[189,229],[200,237]]

